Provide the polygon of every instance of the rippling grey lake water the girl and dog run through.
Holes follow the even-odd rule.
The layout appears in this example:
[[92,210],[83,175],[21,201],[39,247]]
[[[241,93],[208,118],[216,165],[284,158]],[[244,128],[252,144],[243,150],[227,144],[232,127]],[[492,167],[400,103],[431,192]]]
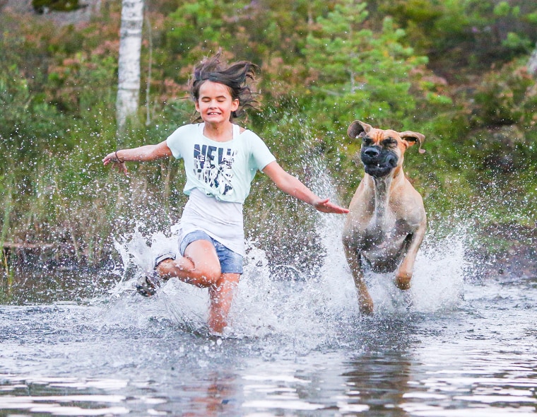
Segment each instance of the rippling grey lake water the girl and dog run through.
[[[71,271],[78,290],[49,274],[61,301],[0,306],[0,415],[537,413],[537,277],[480,279],[455,230],[425,241],[412,305],[391,276],[368,277],[375,313],[363,317],[343,218],[323,219],[326,259],[310,276],[271,276],[249,242],[224,337],[207,334],[204,290],[172,280],[151,299],[134,292],[136,268],[152,257],[139,234],[118,244],[124,264],[105,293],[93,291],[103,274]],[[25,292],[47,290],[21,286],[21,300]]]

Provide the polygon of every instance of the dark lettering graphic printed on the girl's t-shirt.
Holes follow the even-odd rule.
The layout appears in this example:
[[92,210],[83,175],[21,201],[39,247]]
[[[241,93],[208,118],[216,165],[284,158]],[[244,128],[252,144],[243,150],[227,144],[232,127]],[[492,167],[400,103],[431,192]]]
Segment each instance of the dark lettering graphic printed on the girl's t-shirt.
[[235,160],[235,152],[230,148],[194,145],[194,175],[220,195],[233,194],[231,166]]

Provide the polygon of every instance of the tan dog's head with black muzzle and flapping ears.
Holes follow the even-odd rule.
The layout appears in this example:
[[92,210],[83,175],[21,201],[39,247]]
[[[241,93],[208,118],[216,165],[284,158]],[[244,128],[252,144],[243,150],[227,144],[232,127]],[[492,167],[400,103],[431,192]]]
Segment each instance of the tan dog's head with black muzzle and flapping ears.
[[391,129],[376,129],[355,120],[348,127],[347,134],[351,139],[362,139],[360,159],[365,172],[372,177],[386,177],[396,167],[403,165],[403,154],[416,142],[420,143],[420,153],[425,152],[421,148],[425,136],[415,131],[399,133]]

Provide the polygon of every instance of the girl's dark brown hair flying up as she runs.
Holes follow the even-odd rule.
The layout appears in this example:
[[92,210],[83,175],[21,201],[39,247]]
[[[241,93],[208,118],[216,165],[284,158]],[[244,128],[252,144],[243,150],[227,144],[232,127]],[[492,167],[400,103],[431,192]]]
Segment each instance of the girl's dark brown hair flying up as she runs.
[[222,53],[217,52],[213,57],[203,59],[194,66],[194,74],[189,84],[192,100],[199,100],[199,89],[205,81],[221,83],[230,90],[231,98],[239,100],[239,108],[232,112],[231,118],[241,117],[247,108],[257,109],[259,102],[254,98],[254,92],[249,84],[255,82],[256,71],[259,66],[249,61],[238,61],[226,64]]

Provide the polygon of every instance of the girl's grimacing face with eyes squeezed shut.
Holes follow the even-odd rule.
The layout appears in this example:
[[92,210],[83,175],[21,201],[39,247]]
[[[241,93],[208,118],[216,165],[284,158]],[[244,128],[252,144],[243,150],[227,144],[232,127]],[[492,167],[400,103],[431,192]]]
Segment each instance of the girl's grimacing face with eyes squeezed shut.
[[231,113],[239,108],[239,100],[233,100],[228,86],[213,81],[204,81],[199,88],[196,111],[203,122],[223,124],[229,122]]

